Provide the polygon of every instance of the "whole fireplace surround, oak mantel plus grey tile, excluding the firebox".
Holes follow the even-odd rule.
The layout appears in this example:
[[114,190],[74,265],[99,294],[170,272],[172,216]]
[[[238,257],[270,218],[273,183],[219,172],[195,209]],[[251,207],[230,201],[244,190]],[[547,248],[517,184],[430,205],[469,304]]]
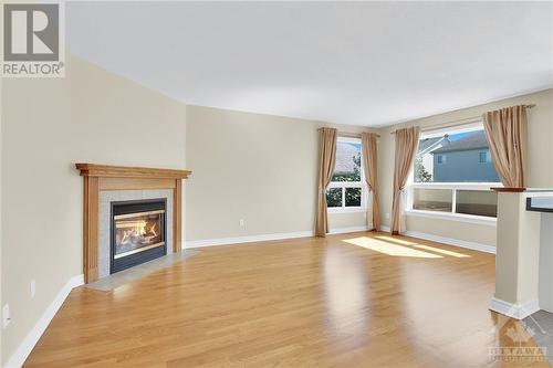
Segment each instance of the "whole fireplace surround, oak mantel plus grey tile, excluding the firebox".
[[[180,252],[182,179],[188,170],[76,164],[83,177],[83,273],[85,283],[109,274],[109,202],[167,199],[167,253]],[[106,210],[107,209],[107,210]],[[107,211],[107,212],[106,212]],[[170,236],[170,238],[169,238]],[[106,248],[107,246],[107,248]],[[106,254],[107,249],[107,254]],[[106,274],[107,270],[107,274]]]

